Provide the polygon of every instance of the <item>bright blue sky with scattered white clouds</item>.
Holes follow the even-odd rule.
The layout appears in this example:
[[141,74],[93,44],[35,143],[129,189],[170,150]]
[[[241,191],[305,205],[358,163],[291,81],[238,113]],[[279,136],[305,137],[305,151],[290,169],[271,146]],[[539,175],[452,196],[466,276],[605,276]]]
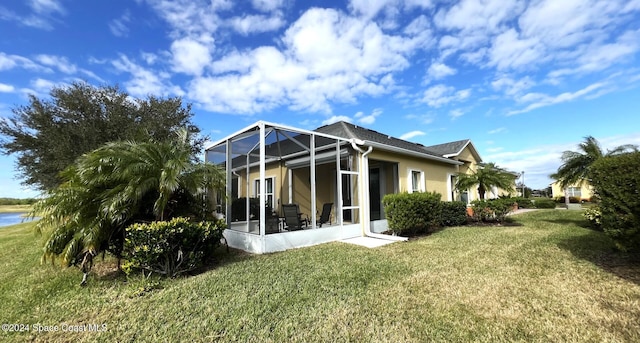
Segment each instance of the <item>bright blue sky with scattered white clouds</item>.
[[[181,96],[211,140],[257,120],[470,138],[550,183],[584,136],[640,144],[640,0],[10,0],[0,117],[74,80]],[[0,197],[26,197],[0,157]]]

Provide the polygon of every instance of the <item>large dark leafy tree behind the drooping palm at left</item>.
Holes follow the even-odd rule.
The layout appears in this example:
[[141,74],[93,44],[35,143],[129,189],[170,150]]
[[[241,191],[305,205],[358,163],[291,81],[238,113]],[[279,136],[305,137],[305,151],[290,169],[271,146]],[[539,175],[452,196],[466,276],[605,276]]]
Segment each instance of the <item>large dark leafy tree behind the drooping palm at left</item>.
[[[84,82],[53,88],[50,99],[31,95],[29,104],[0,119],[0,151],[17,154],[23,183],[51,190],[60,172],[83,153],[118,140],[166,140],[178,128],[199,129],[190,122],[191,106],[180,98],[132,99],[117,86]],[[194,140],[201,151],[204,139]]]

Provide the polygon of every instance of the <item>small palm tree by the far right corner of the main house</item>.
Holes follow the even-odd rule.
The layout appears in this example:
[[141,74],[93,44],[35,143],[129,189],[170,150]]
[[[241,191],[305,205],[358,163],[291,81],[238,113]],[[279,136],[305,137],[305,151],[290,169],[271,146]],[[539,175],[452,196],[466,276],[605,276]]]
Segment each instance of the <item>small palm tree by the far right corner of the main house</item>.
[[456,189],[460,192],[478,186],[480,200],[484,200],[485,193],[493,187],[506,190],[513,189],[515,175],[498,167],[495,163],[486,163],[478,166],[471,174],[458,173]]

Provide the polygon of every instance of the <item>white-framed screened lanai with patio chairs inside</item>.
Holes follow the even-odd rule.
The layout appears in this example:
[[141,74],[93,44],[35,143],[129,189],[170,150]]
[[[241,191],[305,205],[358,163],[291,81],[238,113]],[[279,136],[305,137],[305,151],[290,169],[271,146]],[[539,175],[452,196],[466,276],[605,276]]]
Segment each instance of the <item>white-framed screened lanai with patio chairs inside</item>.
[[261,121],[207,148],[206,161],[226,171],[228,244],[266,253],[362,235],[355,144]]

